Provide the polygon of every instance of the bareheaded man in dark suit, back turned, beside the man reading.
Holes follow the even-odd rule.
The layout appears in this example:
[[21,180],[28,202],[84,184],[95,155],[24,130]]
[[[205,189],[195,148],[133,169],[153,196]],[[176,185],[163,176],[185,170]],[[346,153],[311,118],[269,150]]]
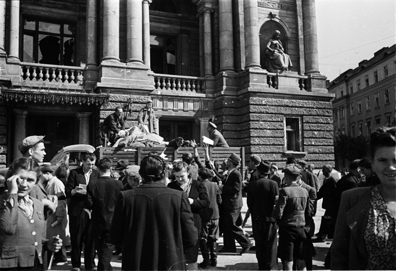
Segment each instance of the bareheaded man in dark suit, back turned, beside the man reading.
[[123,188],[122,182],[110,177],[111,160],[103,158],[98,163],[98,180],[87,186],[85,207],[92,210],[92,224],[95,225],[95,248],[98,252],[98,270],[112,270],[110,261],[114,245],[110,243],[109,230],[113,219],[115,200]]

